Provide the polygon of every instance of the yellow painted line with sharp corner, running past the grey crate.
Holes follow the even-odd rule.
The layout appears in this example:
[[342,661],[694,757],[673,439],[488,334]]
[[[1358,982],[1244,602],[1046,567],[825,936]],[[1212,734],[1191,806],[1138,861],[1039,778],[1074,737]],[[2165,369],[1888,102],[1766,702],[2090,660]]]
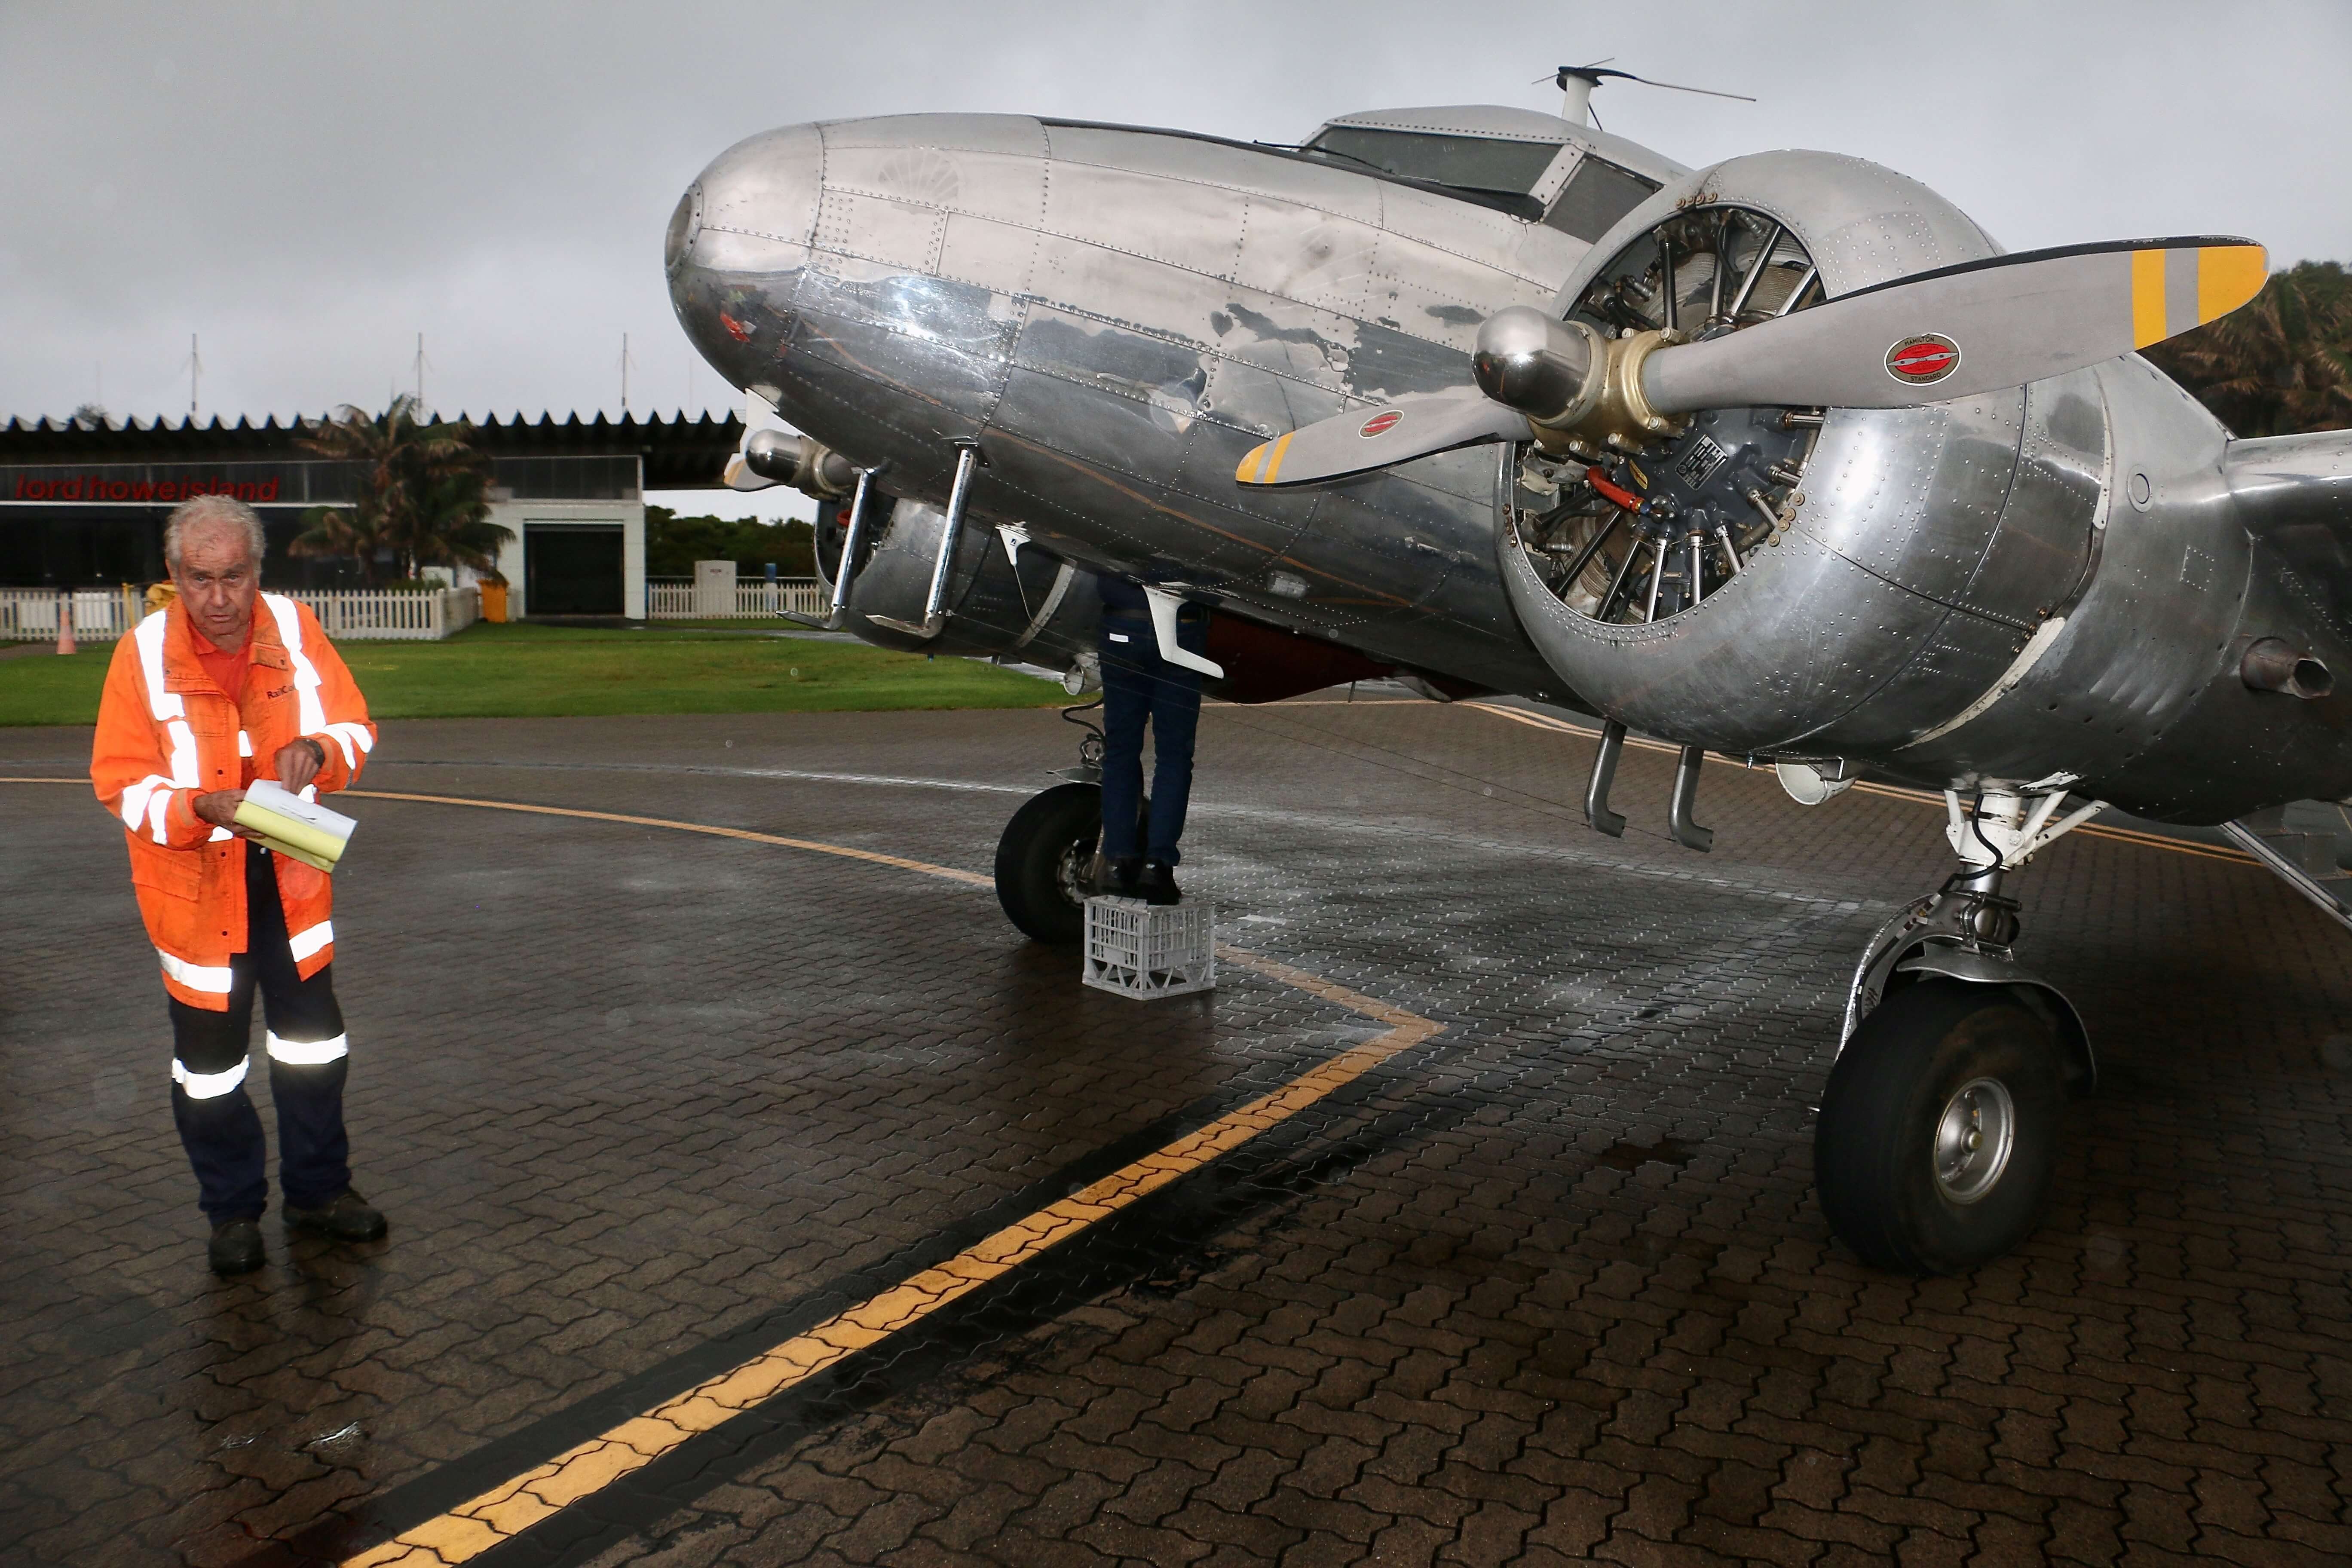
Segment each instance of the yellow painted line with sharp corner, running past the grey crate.
[[[28,778],[0,783],[80,783],[73,778]],[[524,811],[532,816],[564,816],[593,823],[621,823],[628,827],[666,827],[673,832],[699,832],[720,839],[743,839],[750,844],[776,844],[781,849],[804,849],[849,860],[870,860],[924,877],[946,877],[967,886],[993,886],[988,877],[931,865],[906,856],[884,856],[847,844],[821,844],[816,839],[790,839],[774,832],[750,832],[743,827],[715,827],[710,823],[680,823],[659,816],[628,816],[621,811],[579,811],[572,806],[527,806],[503,799],[468,799],[459,795],[407,795],[393,790],[346,790],[362,799],[402,799],[428,806],[475,806],[485,811]],[[767,1349],[741,1366],[668,1399],[652,1410],[633,1415],[616,1427],[579,1443],[546,1465],[536,1465],[477,1497],[468,1497],[447,1514],[428,1519],[397,1537],[346,1559],[350,1566],[386,1568],[447,1568],[463,1563],[499,1542],[513,1540],[534,1523],[595,1495],[621,1476],[628,1476],[687,1439],[710,1432],[736,1415],[760,1406],[776,1394],[807,1382],[821,1371],[837,1366],[847,1356],[880,1345],[894,1333],[920,1324],[941,1307],[1002,1279],[1033,1262],[1042,1253],[1087,1232],[1091,1225],[1120,1213],[1169,1182],[1200,1171],[1221,1154],[1230,1154],[1251,1138],[1268,1133],[1310,1105],[1329,1098],[1338,1088],[1357,1081],[1399,1051],[1428,1041],[1444,1030],[1442,1023],[1390,1006],[1334,980],[1291,969],[1244,947],[1218,943],[1218,957],[1228,964],[1251,969],[1279,985],[1289,985],[1310,997],[1343,1006],[1352,1013],[1388,1025],[1385,1034],[1305,1070],[1272,1093],[1258,1095],[1240,1110],[1225,1112],[1216,1121],[1152,1150],[1150,1154],[1120,1166],[1110,1175],[1073,1192],[1058,1204],[1030,1213],[993,1237],[964,1248],[946,1262],[922,1269],[910,1279],[840,1312],[816,1328],[800,1333],[774,1349]]]

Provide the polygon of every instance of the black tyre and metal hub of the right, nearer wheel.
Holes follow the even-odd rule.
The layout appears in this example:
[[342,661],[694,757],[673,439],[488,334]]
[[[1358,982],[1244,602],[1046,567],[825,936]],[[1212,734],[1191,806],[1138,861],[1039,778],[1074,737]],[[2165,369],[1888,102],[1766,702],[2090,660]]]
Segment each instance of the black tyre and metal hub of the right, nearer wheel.
[[2063,1100],[2051,1025],[1999,985],[1919,980],[1830,1070],[1813,1185],[1837,1239],[1898,1274],[1966,1274],[2042,1218]]

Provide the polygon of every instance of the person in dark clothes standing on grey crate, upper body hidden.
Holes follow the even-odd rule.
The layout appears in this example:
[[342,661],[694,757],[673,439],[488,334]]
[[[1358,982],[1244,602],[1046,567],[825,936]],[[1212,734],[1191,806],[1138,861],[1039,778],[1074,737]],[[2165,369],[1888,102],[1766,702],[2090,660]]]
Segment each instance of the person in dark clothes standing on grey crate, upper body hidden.
[[[1145,903],[1178,903],[1176,839],[1192,795],[1192,736],[1200,729],[1200,670],[1160,658],[1150,597],[1127,578],[1103,576],[1103,851],[1096,891]],[[1202,654],[1209,609],[1176,611],[1176,646]],[[1143,811],[1143,726],[1152,731],[1152,811]]]

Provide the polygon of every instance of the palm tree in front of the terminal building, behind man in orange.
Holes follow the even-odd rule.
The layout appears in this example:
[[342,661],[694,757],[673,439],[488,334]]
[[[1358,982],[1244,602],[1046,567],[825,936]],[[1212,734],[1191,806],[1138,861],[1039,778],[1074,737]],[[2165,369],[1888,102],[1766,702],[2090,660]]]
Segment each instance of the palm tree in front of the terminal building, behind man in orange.
[[350,505],[315,505],[289,550],[306,557],[358,557],[360,578],[376,583],[379,557],[400,576],[421,567],[473,567],[499,578],[499,545],[515,531],[489,520],[489,458],[473,449],[461,421],[421,421],[416,400],[393,397],[383,414],[343,404],[310,428],[308,451],[360,468]]

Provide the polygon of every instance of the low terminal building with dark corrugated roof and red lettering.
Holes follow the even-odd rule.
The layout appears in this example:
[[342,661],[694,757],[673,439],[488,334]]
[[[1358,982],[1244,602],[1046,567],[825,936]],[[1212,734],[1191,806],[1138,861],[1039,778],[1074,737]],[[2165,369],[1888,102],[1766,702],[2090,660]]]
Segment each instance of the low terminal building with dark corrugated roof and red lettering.
[[[299,559],[303,512],[353,496],[362,465],[301,447],[306,421],[0,425],[0,588],[115,588],[165,576],[162,524],[219,491],[261,512],[270,588],[353,588],[355,562]],[[492,522],[515,616],[644,616],[644,491],[717,482],[736,418],[473,421],[492,463]]]

